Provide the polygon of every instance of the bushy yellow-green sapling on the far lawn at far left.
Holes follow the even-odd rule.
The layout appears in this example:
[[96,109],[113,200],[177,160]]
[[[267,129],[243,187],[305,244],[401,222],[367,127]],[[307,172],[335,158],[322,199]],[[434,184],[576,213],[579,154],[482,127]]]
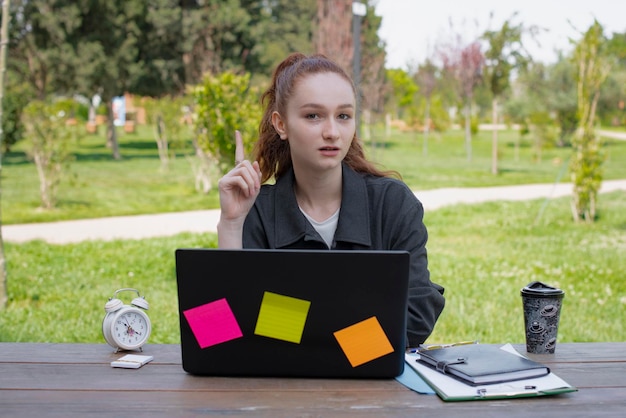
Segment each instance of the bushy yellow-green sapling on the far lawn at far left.
[[70,99],[52,103],[39,100],[24,108],[27,153],[34,160],[39,175],[41,205],[52,209],[63,171],[72,159],[71,145],[78,138],[78,128],[72,123],[77,105]]

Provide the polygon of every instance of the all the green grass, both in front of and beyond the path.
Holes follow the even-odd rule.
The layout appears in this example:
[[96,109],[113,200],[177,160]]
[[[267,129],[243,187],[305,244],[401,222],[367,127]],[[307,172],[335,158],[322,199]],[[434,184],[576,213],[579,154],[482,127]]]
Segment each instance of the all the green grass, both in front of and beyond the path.
[[[555,181],[570,150],[546,150],[536,161],[526,146],[516,160],[510,145],[516,135],[500,134],[502,172],[497,176],[490,174],[490,133],[474,138],[471,162],[458,132],[431,135],[428,156],[422,154],[420,136],[399,133],[375,147],[368,144],[367,152],[399,170],[416,190]],[[64,181],[60,206],[51,212],[37,208],[35,169],[16,148],[3,165],[3,221],[217,207],[215,191],[204,196],[193,190],[184,158],[162,173],[146,132],[121,139],[124,158],[118,162],[111,161],[101,138],[81,143],[72,168],[75,179]],[[605,152],[605,179],[626,178],[626,141],[607,141]],[[592,225],[574,224],[568,198],[427,212],[431,277],[446,287],[447,299],[430,341],[523,342],[519,290],[533,280],[566,292],[559,341],[625,341],[626,195],[601,194],[598,213]],[[0,341],[104,343],[104,304],[115,290],[134,287],[150,303],[150,342],[177,343],[174,250],[215,246],[213,234],[68,245],[5,243],[9,301],[0,314]]]

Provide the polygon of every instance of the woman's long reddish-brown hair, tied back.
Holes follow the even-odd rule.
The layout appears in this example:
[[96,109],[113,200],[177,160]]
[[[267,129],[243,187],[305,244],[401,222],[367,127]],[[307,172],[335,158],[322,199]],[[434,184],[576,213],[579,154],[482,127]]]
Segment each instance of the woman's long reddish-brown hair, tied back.
[[[319,73],[338,74],[350,83],[356,97],[356,87],[350,76],[341,66],[322,54],[306,56],[295,52],[278,64],[272,76],[272,84],[261,96],[261,103],[265,110],[259,125],[259,140],[254,147],[254,159],[259,162],[263,173],[261,183],[265,183],[272,177],[278,180],[292,165],[289,141],[280,139],[280,135],[272,125],[272,113],[277,111],[282,115],[286,114],[287,103],[298,81],[308,75]],[[363,146],[356,137],[356,132],[344,162],[359,173],[400,178],[398,172],[380,170],[365,158]]]

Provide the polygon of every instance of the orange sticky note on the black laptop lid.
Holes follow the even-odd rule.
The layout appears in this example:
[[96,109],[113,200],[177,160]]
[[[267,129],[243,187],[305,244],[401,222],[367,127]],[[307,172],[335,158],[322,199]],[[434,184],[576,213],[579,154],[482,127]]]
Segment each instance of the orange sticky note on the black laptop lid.
[[352,367],[393,353],[393,347],[375,316],[333,333]]

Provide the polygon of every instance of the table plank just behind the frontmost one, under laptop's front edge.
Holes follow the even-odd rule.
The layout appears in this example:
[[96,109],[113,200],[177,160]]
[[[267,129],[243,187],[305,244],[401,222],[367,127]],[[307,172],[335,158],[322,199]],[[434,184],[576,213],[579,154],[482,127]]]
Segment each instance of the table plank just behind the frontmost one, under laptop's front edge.
[[[626,363],[554,364],[552,370],[577,388],[624,388]],[[202,377],[179,365],[148,364],[140,369],[112,369],[108,364],[0,363],[0,389],[38,390],[176,390],[176,391],[396,391],[394,379],[297,379]]]

